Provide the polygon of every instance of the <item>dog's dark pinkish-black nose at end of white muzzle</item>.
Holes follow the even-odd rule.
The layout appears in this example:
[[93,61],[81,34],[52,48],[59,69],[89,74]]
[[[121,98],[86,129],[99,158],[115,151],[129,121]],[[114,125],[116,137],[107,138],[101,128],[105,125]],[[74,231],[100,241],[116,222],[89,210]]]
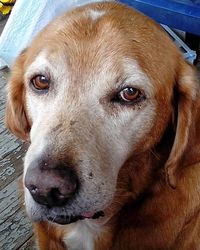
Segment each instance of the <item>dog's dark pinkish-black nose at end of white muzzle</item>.
[[33,199],[48,207],[65,205],[78,190],[78,178],[66,165],[42,167],[38,161],[33,162],[25,176],[25,186]]

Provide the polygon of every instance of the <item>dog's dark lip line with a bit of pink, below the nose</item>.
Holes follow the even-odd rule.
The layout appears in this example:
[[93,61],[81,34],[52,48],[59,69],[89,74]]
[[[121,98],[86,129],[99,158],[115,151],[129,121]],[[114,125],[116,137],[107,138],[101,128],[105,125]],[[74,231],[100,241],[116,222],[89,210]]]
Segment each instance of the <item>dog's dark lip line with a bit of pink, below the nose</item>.
[[60,225],[66,225],[66,224],[70,224],[70,223],[74,223],[78,220],[84,220],[84,219],[98,219],[100,217],[104,216],[104,212],[103,211],[98,211],[96,213],[93,212],[85,212],[82,213],[81,215],[55,215],[55,216],[47,216],[47,220],[53,222],[53,223],[57,223]]

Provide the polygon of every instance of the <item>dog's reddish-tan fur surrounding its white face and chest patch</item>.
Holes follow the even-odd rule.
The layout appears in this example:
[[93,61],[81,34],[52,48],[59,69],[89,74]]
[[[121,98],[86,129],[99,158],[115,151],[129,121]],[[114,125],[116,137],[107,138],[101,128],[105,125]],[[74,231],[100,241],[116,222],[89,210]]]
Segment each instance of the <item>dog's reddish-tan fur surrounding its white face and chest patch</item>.
[[[90,9],[109,14],[91,22],[86,15]],[[91,41],[91,46],[84,50],[76,41]],[[113,51],[106,50],[110,43]],[[96,220],[102,231],[94,249],[200,249],[200,94],[194,68],[157,24],[128,7],[98,3],[73,10],[45,28],[14,66],[6,122],[23,139],[28,138],[31,126],[24,100],[26,69],[45,46],[56,61],[65,53],[64,44],[73,48],[66,61],[69,57],[70,65],[80,72],[84,69],[86,78],[91,70],[98,72],[101,58],[110,57],[118,69],[115,59],[124,56],[137,61],[154,91],[154,126],[140,138],[119,170],[112,203],[104,209],[105,217]],[[93,47],[97,44],[101,53]],[[77,57],[78,64],[74,63]],[[76,72],[76,68],[71,70]],[[74,82],[72,95],[79,92],[79,82]],[[103,97],[101,103],[107,105]],[[116,112],[110,106],[105,109],[110,115]],[[67,125],[64,128],[62,133],[69,130]],[[64,241],[71,225],[39,222],[34,227],[39,249],[67,249]]]

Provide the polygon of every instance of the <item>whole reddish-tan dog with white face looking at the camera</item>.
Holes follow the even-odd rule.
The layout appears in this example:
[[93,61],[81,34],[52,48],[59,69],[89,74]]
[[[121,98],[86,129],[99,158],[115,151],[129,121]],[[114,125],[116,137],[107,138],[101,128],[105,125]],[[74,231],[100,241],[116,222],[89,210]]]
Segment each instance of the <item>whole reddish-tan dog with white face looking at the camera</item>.
[[115,2],[57,18],[18,57],[8,128],[30,141],[40,250],[200,249],[200,94],[159,25]]

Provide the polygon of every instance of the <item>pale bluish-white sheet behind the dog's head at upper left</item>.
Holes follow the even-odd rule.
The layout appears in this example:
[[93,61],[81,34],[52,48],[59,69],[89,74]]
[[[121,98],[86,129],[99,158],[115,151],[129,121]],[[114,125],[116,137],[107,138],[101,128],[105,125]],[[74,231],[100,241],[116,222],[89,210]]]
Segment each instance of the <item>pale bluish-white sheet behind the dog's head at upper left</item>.
[[17,0],[0,37],[0,69],[12,66],[19,53],[53,18],[99,0]]

